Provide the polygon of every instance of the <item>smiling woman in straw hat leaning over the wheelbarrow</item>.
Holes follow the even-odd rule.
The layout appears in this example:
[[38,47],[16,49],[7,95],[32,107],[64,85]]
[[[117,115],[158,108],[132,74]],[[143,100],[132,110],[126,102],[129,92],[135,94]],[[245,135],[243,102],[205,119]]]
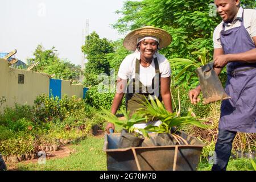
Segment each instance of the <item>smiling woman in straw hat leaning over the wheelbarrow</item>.
[[[141,108],[141,103],[145,98],[148,99],[148,96],[163,101],[167,111],[172,113],[171,68],[166,57],[157,52],[158,49],[167,47],[171,41],[168,32],[151,26],[139,28],[126,36],[123,46],[135,52],[126,56],[119,67],[112,114],[117,112],[125,93],[126,110],[129,110],[130,114]],[[108,133],[110,128],[114,130],[113,123],[106,126]]]

